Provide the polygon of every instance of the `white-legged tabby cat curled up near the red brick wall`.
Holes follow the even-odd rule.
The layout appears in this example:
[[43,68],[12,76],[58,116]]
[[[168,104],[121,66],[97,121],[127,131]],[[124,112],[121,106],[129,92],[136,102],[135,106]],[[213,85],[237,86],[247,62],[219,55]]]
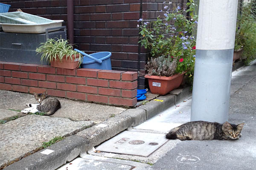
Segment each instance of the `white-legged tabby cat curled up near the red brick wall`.
[[26,104],[26,108],[21,111],[21,113],[37,113],[44,112],[46,116],[50,116],[59,108],[61,108],[61,103],[57,98],[52,96],[47,96],[45,91],[43,94],[36,94],[34,92],[35,99],[39,102],[39,104]]

